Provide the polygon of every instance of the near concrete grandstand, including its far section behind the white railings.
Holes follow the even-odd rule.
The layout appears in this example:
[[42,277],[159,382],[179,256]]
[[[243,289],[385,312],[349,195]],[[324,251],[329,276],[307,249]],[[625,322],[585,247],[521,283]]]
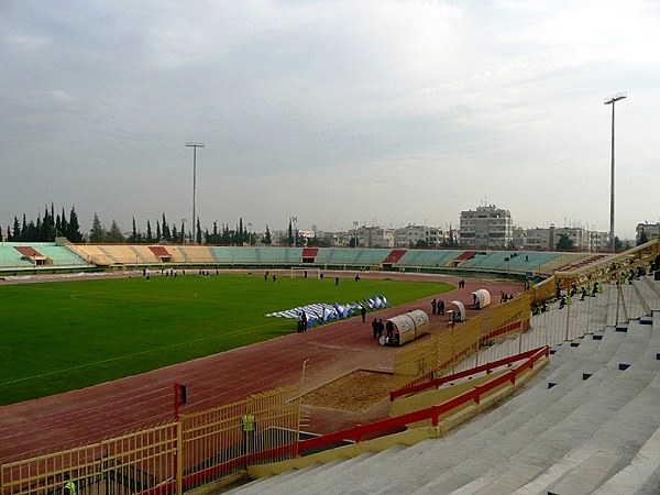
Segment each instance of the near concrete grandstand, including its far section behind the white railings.
[[486,351],[494,360],[552,348],[550,363],[509,400],[440,438],[393,436],[304,457],[294,469],[254,469],[257,480],[228,493],[659,493],[660,282],[613,283],[594,300],[559,304],[532,317],[519,336],[526,342]]

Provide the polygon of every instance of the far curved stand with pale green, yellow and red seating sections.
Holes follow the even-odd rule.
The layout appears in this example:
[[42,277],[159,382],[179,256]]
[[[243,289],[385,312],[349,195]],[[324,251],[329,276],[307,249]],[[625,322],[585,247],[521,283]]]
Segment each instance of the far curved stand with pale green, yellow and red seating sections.
[[[263,246],[202,246],[202,245],[148,245],[148,244],[67,244],[55,243],[3,243],[0,246],[0,270],[34,267],[15,246],[32,248],[46,256],[50,266],[111,266],[154,265],[162,263],[195,265],[302,265],[320,267],[383,267],[394,270],[425,268],[492,271],[498,273],[551,274],[556,270],[575,267],[594,257],[592,253],[558,253],[521,251],[465,252],[463,250],[392,250]],[[309,253],[312,253],[310,257]],[[603,256],[603,255],[598,255]]]

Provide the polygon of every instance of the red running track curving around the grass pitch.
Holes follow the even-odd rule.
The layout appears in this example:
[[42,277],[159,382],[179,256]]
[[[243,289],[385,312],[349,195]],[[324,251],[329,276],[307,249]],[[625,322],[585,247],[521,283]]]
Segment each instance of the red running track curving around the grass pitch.
[[[345,273],[341,275],[345,276]],[[328,276],[334,277],[334,274]],[[430,277],[438,282],[457,283],[455,277],[405,276],[407,279],[427,282]],[[446,302],[462,300],[468,307],[472,301],[471,293],[477,288],[491,290],[495,296],[494,305],[498,304],[501,290],[507,294],[522,290],[521,284],[510,282],[465,279],[464,288],[437,297]],[[177,382],[187,385],[188,405],[185,411],[191,413],[237,402],[253,393],[299,384],[306,360],[306,391],[359,369],[392,372],[396,348],[382,346],[373,340],[372,318],[389,318],[408,309],[424,309],[430,315],[431,299],[429,297],[370,314],[365,323],[360,317],[354,317],[306,333],[293,331],[289,336],[267,342],[141,375],[0,407],[0,461],[78,447],[170,419],[173,386]],[[443,331],[443,318],[429,318],[431,333]],[[292,330],[294,324],[292,321]],[[387,398],[362,414],[311,407],[309,426],[305,429],[326,433],[358,422],[381,419],[387,416]]]

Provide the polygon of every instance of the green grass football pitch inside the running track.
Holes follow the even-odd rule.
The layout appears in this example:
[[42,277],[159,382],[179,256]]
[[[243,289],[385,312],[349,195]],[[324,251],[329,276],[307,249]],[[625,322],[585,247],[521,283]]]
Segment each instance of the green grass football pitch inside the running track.
[[[44,397],[295,332],[266,314],[383,294],[393,306],[439,282],[263,274],[91,279],[0,287],[0,405]],[[332,323],[330,323],[332,324]]]

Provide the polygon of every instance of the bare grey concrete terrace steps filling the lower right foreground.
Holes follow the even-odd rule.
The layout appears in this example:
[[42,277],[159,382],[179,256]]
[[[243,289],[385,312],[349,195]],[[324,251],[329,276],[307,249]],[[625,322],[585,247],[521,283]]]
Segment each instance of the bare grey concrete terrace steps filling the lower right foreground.
[[[309,466],[239,491],[358,495],[597,488],[608,494],[623,493],[634,476],[639,493],[658,493],[660,312],[650,320],[652,326],[632,320],[627,331],[607,328],[602,340],[585,337],[558,345],[548,366],[515,397],[441,439]],[[622,363],[629,367],[620,369]],[[588,380],[583,380],[585,370],[593,373]],[[557,385],[548,388],[549,381]]]

